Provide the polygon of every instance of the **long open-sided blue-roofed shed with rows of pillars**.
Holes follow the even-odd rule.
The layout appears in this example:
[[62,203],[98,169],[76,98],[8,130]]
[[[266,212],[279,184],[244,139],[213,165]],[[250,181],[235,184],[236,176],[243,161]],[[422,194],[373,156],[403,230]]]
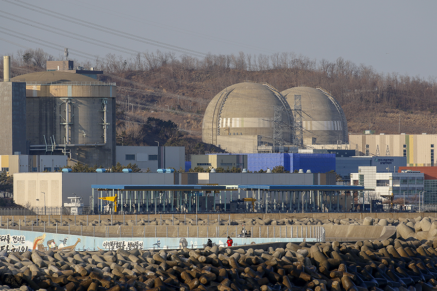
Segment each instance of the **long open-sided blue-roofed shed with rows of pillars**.
[[[347,209],[347,194],[362,192],[364,186],[343,185],[105,185],[93,184],[98,209],[116,197],[128,212],[237,211],[238,204],[252,202],[256,212],[325,212]],[[97,195],[95,195],[97,193]],[[216,195],[218,199],[216,199]],[[343,203],[340,206],[340,196]],[[351,196],[352,197],[352,196]],[[229,203],[228,203],[229,201]],[[353,199],[352,199],[353,201]],[[353,206],[351,206],[353,208]],[[246,207],[248,209],[248,207]]]

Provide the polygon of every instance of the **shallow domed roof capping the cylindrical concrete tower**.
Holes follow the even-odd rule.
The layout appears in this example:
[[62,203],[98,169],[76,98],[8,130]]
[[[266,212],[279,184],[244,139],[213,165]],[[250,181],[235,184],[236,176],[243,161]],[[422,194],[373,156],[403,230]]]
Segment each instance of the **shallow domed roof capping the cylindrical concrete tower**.
[[44,71],[19,75],[12,80],[24,80],[26,82],[98,82],[96,79],[81,74],[69,73],[65,71]]

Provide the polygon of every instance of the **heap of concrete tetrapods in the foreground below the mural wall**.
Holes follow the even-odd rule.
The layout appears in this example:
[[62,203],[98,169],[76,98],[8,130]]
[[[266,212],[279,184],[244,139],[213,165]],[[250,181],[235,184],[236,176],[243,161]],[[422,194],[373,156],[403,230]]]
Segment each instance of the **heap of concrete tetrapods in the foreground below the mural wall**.
[[1,290],[437,290],[437,241],[0,253]]

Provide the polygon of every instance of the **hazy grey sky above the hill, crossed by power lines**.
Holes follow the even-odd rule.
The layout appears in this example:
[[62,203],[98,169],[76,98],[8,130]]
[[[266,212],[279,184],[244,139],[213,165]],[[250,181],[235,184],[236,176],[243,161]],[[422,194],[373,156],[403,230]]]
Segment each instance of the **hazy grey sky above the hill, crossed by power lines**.
[[59,57],[67,47],[78,60],[170,46],[199,57],[294,52],[427,79],[437,76],[436,12],[436,0],[0,0],[0,51]]

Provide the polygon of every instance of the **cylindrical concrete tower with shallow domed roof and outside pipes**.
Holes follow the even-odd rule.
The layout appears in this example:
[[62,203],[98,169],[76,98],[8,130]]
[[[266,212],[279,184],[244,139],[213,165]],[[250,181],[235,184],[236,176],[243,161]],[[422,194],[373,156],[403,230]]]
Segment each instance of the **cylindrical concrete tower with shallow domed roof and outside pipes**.
[[66,154],[69,163],[103,167],[115,164],[115,83],[65,71],[16,78],[26,81],[29,154]]

